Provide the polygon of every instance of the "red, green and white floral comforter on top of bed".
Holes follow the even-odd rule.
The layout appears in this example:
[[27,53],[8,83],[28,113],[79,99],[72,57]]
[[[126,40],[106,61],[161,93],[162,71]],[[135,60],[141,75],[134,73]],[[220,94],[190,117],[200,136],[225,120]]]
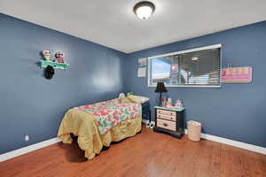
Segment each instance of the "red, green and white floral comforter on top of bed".
[[104,135],[121,121],[136,118],[142,114],[141,104],[123,104],[119,99],[113,99],[97,104],[86,104],[74,109],[92,114],[98,125],[100,135]]

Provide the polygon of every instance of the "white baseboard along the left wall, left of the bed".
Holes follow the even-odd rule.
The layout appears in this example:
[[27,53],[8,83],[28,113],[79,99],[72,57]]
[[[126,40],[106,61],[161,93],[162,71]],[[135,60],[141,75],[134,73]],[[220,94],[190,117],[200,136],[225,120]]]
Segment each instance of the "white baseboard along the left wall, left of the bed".
[[23,154],[27,154],[28,152],[31,152],[34,150],[42,149],[46,146],[49,146],[49,145],[57,143],[57,142],[61,142],[61,140],[59,138],[52,138],[50,140],[38,142],[38,143],[32,144],[30,146],[21,148],[19,150],[12,150],[10,152],[1,154],[0,155],[0,162],[3,162],[4,160],[8,160],[10,158],[15,158],[15,157],[21,156]]

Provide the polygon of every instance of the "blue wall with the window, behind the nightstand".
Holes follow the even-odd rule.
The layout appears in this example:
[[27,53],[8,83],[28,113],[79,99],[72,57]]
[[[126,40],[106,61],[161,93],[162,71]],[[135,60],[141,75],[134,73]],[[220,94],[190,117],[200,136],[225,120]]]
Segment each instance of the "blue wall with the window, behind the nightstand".
[[252,83],[223,84],[220,89],[168,88],[168,96],[182,99],[185,120],[200,121],[205,133],[266,147],[266,21],[131,53],[124,64],[125,91],[149,96],[154,106],[158,94],[147,87],[147,78],[137,78],[137,58],[216,43],[223,44],[223,67],[228,61],[253,67]]

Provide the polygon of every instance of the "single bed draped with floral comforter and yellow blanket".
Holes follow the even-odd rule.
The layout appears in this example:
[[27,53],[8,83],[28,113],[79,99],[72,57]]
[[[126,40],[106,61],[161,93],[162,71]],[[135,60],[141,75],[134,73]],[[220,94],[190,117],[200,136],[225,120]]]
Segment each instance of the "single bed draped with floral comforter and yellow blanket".
[[92,159],[103,146],[119,142],[141,131],[142,106],[129,99],[113,99],[97,104],[74,107],[65,113],[58,137],[72,143],[71,134],[78,136],[85,158]]

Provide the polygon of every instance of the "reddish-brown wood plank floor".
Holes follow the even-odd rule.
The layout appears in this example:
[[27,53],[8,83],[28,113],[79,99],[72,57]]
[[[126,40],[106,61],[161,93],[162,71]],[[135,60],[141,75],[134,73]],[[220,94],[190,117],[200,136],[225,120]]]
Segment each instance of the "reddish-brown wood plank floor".
[[153,133],[113,143],[88,161],[77,143],[51,145],[0,163],[0,176],[19,177],[266,177],[266,156],[203,140],[191,142]]

